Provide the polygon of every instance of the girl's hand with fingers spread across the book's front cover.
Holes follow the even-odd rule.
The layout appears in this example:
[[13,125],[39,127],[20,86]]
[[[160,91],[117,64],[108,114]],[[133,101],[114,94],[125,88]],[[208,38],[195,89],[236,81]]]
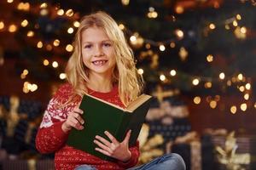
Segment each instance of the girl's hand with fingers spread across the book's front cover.
[[108,133],[108,131],[105,131],[105,134],[108,136],[108,139],[111,140],[111,143],[107,139],[96,135],[94,143],[100,148],[96,148],[95,150],[102,152],[102,154],[106,156],[111,156],[118,159],[119,161],[130,160],[131,151],[129,150],[129,139],[131,137],[131,130],[126,133],[125,139],[121,143],[119,143],[119,141],[117,141],[117,139],[115,139],[111,133]]

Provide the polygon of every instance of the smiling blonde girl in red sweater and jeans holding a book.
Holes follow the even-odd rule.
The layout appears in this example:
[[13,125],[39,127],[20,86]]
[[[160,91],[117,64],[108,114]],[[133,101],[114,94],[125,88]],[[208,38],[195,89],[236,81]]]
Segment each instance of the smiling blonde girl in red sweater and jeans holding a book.
[[123,141],[106,132],[111,143],[96,136],[96,150],[116,161],[103,161],[65,144],[72,128],[86,128],[86,120],[81,117],[86,111],[79,110],[84,94],[125,107],[143,87],[124,33],[108,14],[84,16],[73,45],[66,68],[67,83],[58,89],[44,112],[36,138],[37,149],[41,153],[55,152],[56,169],[184,169],[183,159],[175,154],[134,167],[139,149],[138,142],[133,147],[128,145],[131,131]]

